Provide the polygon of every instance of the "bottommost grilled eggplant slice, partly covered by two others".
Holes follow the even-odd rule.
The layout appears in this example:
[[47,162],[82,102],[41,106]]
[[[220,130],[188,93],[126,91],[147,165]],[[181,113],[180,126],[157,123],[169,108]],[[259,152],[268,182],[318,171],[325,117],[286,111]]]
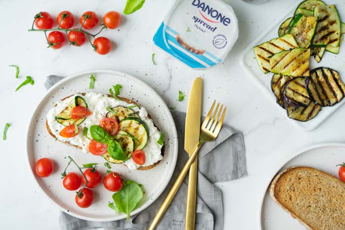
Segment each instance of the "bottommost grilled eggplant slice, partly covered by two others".
[[322,109],[321,105],[311,101],[308,106],[293,107],[286,106],[287,116],[297,121],[309,121],[314,118]]

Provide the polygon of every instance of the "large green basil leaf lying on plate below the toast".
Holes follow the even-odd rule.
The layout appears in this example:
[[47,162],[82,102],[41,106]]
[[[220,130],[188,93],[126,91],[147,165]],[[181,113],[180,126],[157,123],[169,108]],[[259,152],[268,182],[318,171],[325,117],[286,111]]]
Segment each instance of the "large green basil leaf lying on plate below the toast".
[[112,195],[117,209],[120,212],[127,214],[127,220],[129,219],[130,213],[137,207],[142,197],[142,190],[135,182],[125,184],[119,192]]

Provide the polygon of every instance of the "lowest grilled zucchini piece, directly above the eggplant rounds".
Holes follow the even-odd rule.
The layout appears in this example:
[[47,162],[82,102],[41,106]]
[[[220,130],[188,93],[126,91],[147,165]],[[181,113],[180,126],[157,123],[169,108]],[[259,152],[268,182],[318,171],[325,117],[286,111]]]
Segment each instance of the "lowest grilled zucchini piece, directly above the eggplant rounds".
[[285,76],[309,76],[310,49],[281,51],[270,58],[271,72]]

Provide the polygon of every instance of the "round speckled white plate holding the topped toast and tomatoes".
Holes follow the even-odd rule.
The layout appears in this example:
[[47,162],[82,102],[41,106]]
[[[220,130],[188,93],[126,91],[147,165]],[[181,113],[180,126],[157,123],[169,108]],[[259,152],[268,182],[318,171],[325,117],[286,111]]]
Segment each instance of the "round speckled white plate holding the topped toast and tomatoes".
[[[121,96],[137,101],[145,107],[152,116],[155,124],[165,133],[165,155],[156,167],[149,170],[129,170],[122,164],[111,164],[111,170],[123,175],[126,180],[134,180],[142,184],[145,195],[140,206],[131,214],[136,214],[156,200],[166,188],[177,159],[177,133],[173,117],[169,108],[161,97],[147,84],[137,78],[112,70],[95,70],[82,72],[63,79],[54,85],[44,96],[35,109],[27,134],[27,156],[31,171],[38,185],[61,210],[85,220],[113,221],[126,217],[123,213],[115,213],[107,205],[112,201],[112,192],[107,191],[101,184],[93,189],[95,201],[89,208],[80,208],[75,204],[75,192],[66,190],[62,185],[60,173],[66,167],[67,156],[71,156],[78,164],[99,163],[98,170],[105,175],[107,168],[104,159],[92,154],[84,154],[81,150],[55,141],[45,128],[47,111],[55,105],[57,100],[78,92],[90,92],[88,89],[90,75],[96,77],[95,89],[92,91],[107,94],[112,85],[122,85]],[[35,162],[42,157],[48,157],[55,162],[54,173],[47,178],[35,175]],[[70,165],[69,171],[77,172],[77,168]]]

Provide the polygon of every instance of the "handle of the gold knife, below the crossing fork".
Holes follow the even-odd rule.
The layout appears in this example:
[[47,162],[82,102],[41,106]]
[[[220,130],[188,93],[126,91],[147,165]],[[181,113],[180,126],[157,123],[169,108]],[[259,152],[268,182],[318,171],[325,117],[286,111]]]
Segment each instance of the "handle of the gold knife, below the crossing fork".
[[187,211],[186,211],[186,230],[195,229],[195,209],[197,200],[197,176],[198,176],[198,158],[189,168],[188,193],[187,193]]

